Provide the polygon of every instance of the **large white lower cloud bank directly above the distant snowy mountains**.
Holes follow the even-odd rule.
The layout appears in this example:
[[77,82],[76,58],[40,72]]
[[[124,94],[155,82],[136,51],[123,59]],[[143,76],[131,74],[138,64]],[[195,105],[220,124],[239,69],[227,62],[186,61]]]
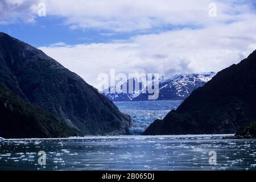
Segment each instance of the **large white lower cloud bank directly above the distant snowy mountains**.
[[229,24],[137,35],[123,42],[40,47],[49,56],[97,85],[100,73],[218,72],[256,49],[256,17]]

